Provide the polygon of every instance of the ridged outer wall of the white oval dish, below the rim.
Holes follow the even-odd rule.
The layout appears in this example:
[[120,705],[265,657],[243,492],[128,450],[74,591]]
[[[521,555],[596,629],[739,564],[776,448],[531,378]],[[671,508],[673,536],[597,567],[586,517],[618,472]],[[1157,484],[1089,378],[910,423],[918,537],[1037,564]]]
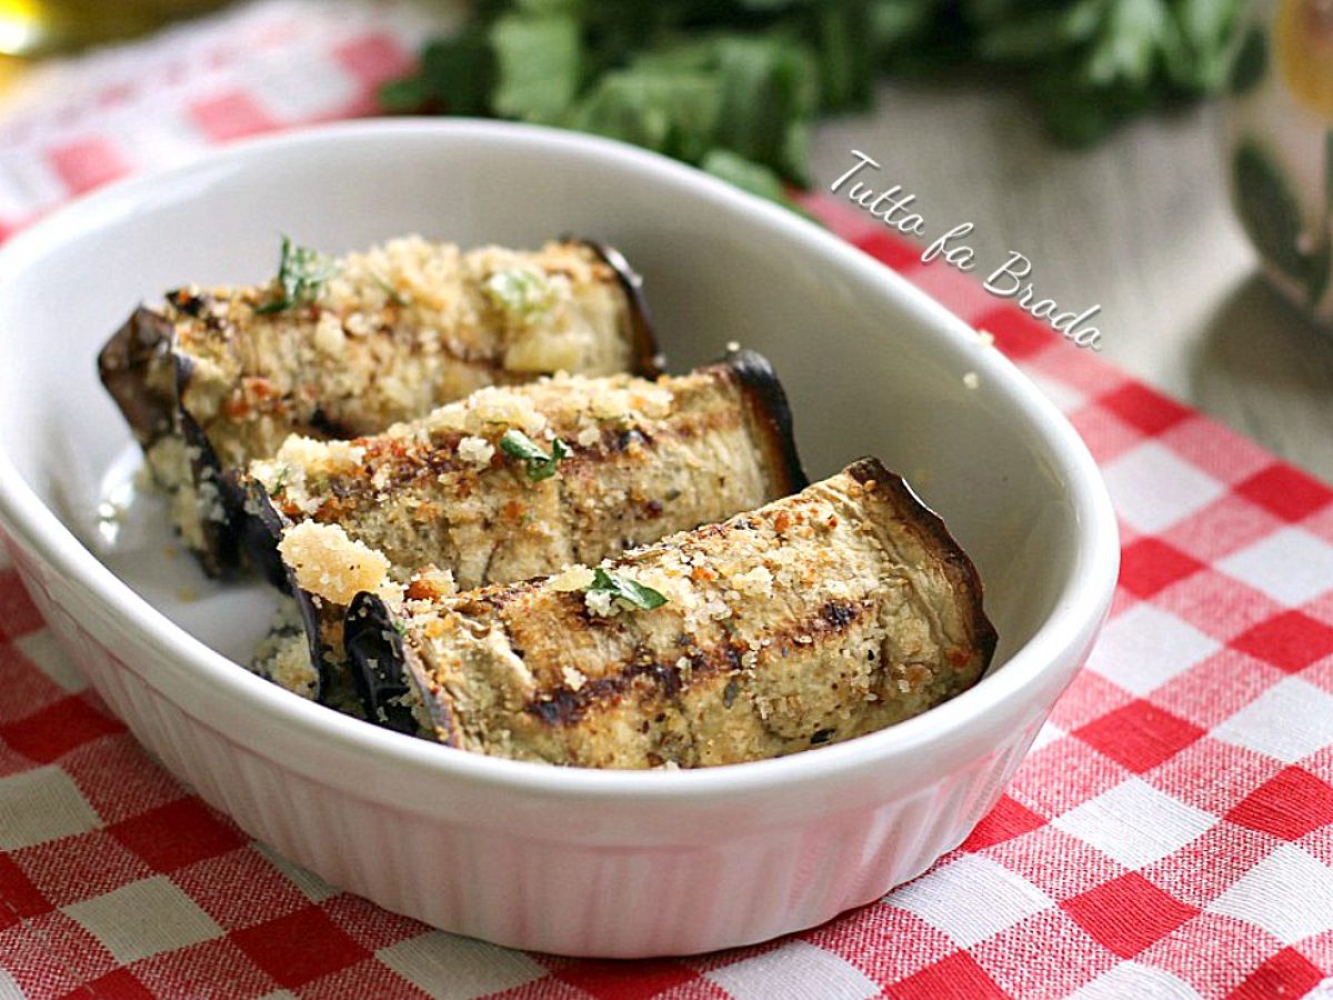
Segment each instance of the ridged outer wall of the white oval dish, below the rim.
[[[974,753],[965,752],[960,765],[936,773],[933,760],[885,760],[885,768],[920,772],[918,789],[908,796],[865,788],[844,808],[817,811],[793,801],[786,823],[742,836],[724,835],[749,825],[746,801],[685,800],[673,807],[670,824],[648,813],[639,829],[592,821],[585,839],[561,829],[576,807],[551,801],[549,824],[497,836],[463,812],[449,823],[411,801],[385,807],[337,768],[325,781],[312,780],[281,755],[264,753],[263,732],[227,733],[193,717],[149,680],[179,669],[175,664],[128,635],[119,636],[129,648],[117,655],[107,637],[123,629],[99,621],[97,607],[77,588],[12,547],[33,601],[92,687],[172,773],[248,833],[388,909],[563,955],[689,955],[742,945],[878,899],[961,843],[994,805],[1078,661],[1052,672],[1040,703],[1005,720],[1008,735],[998,743],[972,737]],[[451,789],[444,781],[433,791],[447,799]],[[768,805],[781,816],[780,801]]]

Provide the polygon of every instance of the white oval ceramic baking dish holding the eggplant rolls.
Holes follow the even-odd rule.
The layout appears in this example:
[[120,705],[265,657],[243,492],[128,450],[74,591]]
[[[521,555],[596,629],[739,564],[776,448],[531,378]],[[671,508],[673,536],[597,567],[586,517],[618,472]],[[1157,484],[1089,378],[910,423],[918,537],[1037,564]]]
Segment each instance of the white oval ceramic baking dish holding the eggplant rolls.
[[[472,756],[252,676],[228,656],[248,653],[269,596],[165,557],[151,501],[116,532],[97,521],[135,459],[93,357],[141,297],[272,273],[279,231],[325,251],[412,231],[620,247],[674,369],[728,340],[757,348],[784,377],[813,476],[874,453],[913,480],[986,583],[996,667],[860,740],[648,773]],[[834,236],[613,143],[385,121],[239,145],[108,189],[0,249],[0,523],[112,709],[205,799],[331,883],[504,944],[700,952],[818,924],[914,877],[996,801],[1113,592],[1097,469],[1006,360]]]

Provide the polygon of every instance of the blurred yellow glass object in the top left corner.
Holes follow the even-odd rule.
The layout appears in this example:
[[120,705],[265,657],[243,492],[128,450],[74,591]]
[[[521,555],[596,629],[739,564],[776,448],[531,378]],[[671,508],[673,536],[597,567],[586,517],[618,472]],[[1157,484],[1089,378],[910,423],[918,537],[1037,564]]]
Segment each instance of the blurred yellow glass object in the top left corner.
[[225,0],[0,0],[0,57],[96,45],[221,7]]

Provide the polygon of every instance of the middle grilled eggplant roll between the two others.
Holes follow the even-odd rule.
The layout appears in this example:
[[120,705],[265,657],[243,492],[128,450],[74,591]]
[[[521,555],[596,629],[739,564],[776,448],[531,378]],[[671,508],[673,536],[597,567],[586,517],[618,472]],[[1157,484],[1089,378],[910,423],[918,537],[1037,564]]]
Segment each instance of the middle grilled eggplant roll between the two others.
[[251,464],[244,535],[305,608],[329,675],[357,591],[437,597],[524,580],[804,485],[781,385],[740,351],[676,377],[487,388],[353,441],[292,437]]

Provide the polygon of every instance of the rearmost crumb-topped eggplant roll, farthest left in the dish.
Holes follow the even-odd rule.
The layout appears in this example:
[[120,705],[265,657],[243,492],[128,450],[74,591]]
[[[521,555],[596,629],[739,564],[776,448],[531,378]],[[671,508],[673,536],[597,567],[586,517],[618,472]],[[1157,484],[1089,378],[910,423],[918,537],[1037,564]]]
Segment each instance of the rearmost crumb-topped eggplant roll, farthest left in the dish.
[[284,243],[269,284],[140,307],[99,369],[216,575],[236,555],[224,473],[291,433],[377,433],[559,371],[656,373],[639,284],[617,252],[587,241],[464,253],[411,236],[340,260]]

